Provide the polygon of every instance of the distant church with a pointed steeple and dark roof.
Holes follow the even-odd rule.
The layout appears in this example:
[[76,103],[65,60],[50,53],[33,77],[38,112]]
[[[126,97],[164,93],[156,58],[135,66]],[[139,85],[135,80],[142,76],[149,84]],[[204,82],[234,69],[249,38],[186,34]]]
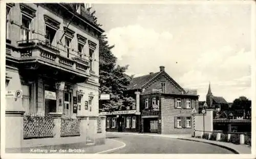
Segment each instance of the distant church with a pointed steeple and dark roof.
[[228,102],[223,97],[217,97],[211,93],[210,84],[206,95],[206,103],[208,108],[214,108],[218,111],[227,110],[229,107]]

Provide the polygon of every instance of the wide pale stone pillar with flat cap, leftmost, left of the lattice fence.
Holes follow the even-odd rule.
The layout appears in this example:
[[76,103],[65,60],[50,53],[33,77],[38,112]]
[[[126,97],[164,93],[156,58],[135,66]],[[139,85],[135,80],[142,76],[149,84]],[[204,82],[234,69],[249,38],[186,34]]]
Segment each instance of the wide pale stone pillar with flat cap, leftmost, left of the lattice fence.
[[[23,116],[25,111],[6,110],[6,152],[21,152],[23,141]],[[11,125],[11,126],[10,126]]]

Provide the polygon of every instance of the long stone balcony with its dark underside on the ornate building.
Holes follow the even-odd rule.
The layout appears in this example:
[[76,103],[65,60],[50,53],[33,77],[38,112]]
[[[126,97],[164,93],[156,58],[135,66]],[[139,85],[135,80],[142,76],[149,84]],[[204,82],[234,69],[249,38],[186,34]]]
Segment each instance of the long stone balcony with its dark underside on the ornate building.
[[[6,54],[6,60],[19,63],[20,69],[36,70],[35,73],[56,75],[56,78],[70,77],[83,82],[90,77],[90,62],[38,39],[17,42],[19,54]],[[7,44],[8,48],[8,44]],[[24,71],[27,72],[27,71]]]

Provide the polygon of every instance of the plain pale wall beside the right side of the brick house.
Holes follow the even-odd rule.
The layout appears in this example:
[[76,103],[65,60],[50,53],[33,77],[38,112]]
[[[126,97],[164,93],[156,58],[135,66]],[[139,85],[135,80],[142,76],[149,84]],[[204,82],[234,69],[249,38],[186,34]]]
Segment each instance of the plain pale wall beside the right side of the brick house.
[[[199,130],[195,132],[196,137],[201,136],[201,131],[213,131],[214,123],[213,123],[213,109],[206,109],[205,115],[196,114],[195,115],[195,130]],[[194,133],[194,132],[193,132]]]

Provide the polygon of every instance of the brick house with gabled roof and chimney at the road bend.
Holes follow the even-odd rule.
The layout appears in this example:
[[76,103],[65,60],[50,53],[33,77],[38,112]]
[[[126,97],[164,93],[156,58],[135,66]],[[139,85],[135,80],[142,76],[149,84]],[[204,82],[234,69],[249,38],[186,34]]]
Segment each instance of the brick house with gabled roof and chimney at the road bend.
[[199,108],[197,91],[183,89],[164,66],[157,73],[132,79],[126,93],[136,99],[136,104],[123,111],[101,112],[107,116],[107,131],[192,132],[192,110]]

